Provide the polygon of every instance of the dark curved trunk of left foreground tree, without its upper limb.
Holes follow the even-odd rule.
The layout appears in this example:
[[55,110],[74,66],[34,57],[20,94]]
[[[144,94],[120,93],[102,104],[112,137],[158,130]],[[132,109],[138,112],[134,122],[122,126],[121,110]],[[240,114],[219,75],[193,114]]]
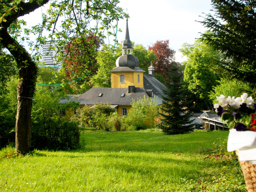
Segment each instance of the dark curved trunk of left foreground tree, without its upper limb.
[[[15,126],[15,151],[25,153],[31,145],[31,110],[37,77],[36,64],[27,51],[8,32],[1,31],[1,43],[14,56],[19,71],[17,86],[17,115]],[[11,47],[11,48],[9,48]]]

